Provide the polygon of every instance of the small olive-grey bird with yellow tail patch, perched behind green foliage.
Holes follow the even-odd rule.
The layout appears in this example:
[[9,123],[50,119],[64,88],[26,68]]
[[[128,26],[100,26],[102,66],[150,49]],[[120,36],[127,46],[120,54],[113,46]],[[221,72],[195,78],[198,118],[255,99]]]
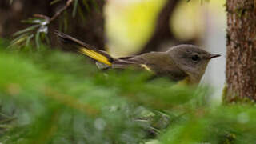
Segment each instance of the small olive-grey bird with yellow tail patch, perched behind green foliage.
[[95,60],[100,69],[126,69],[134,66],[150,73],[170,78],[173,82],[187,85],[198,85],[206,67],[212,58],[220,54],[210,54],[199,46],[182,44],[172,46],[165,52],[149,52],[129,57],[114,58],[106,51],[98,50],[85,42],[73,38],[68,34],[55,31],[62,45]]

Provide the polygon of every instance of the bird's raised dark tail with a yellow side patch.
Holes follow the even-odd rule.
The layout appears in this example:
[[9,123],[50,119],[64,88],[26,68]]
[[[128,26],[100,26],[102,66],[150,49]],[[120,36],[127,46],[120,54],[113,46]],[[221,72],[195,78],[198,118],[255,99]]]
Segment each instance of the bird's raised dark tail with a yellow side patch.
[[90,58],[93,58],[97,62],[100,62],[107,66],[112,66],[114,58],[112,58],[110,54],[106,54],[105,51],[97,50],[97,48],[95,48],[94,46],[90,46],[62,32],[55,31],[55,34],[58,35],[58,38],[63,45],[69,46],[70,50],[74,50],[81,54],[84,54]]

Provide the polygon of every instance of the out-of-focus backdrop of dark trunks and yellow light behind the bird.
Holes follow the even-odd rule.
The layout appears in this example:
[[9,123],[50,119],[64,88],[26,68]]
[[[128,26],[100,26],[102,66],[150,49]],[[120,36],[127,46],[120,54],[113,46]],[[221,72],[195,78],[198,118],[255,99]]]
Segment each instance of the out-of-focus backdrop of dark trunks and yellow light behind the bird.
[[[50,3],[52,4],[50,5]],[[225,1],[191,0],[90,0],[75,1],[46,33],[56,46],[53,31],[62,30],[114,57],[162,51],[189,43],[212,53],[222,54],[210,62],[202,83],[214,87],[214,100],[221,101],[225,80]],[[33,14],[53,16],[66,1],[9,0],[0,2],[0,38],[31,24],[21,21]],[[74,11],[74,9],[76,11]]]

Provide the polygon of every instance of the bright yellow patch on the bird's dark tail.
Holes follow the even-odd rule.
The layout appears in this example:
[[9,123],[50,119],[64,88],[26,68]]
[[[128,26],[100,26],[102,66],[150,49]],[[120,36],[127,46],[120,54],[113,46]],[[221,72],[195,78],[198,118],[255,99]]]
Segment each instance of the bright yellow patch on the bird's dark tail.
[[96,52],[94,50],[89,50],[89,49],[86,49],[85,47],[81,47],[79,50],[80,50],[79,51],[80,53],[86,54],[88,57],[94,58],[98,62],[102,62],[108,66],[112,65],[112,63],[109,61],[108,58],[106,58],[106,56],[99,54],[98,52]]

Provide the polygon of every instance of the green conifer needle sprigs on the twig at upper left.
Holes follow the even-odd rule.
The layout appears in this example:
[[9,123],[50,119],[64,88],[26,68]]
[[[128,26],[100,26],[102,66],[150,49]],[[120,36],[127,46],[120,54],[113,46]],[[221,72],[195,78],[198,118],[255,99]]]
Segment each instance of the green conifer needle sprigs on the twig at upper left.
[[[12,4],[12,2],[13,1],[10,1],[10,4]],[[24,46],[29,47],[29,45],[35,44],[34,48],[40,50],[42,44],[50,44],[49,29],[50,25],[56,19],[59,19],[59,30],[66,31],[69,25],[69,19],[74,18],[78,14],[78,16],[81,17],[82,22],[85,22],[86,13],[84,11],[90,11],[92,7],[98,10],[98,3],[94,0],[51,0],[49,6],[57,5],[61,2],[64,2],[65,5],[60,5],[62,7],[59,8],[54,15],[47,16],[42,14],[32,14],[33,17],[22,20],[22,23],[29,26],[23,30],[18,30],[13,34],[14,40],[10,42],[10,46],[22,48]],[[92,7],[89,6],[89,2],[93,3]],[[86,10],[82,10],[82,6],[80,5],[85,7]],[[71,16],[67,13],[69,7],[72,7]]]

